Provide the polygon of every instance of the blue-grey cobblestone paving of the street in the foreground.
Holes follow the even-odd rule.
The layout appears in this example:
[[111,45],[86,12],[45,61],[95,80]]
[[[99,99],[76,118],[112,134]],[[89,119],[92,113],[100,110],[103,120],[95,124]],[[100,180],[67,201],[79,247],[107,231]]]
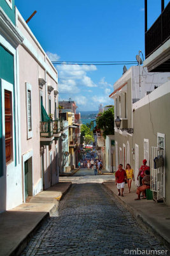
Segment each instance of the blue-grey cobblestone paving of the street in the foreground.
[[39,228],[22,256],[121,256],[139,255],[139,250],[141,255],[154,255],[142,250],[166,248],[142,230],[101,184],[74,184],[60,202],[59,216]]

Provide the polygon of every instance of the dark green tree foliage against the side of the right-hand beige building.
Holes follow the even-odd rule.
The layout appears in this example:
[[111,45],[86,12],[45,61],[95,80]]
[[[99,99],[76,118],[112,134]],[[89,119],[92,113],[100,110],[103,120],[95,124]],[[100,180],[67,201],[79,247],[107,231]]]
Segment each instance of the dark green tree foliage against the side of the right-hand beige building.
[[114,107],[110,108],[96,118],[97,129],[103,131],[103,137],[114,134]]

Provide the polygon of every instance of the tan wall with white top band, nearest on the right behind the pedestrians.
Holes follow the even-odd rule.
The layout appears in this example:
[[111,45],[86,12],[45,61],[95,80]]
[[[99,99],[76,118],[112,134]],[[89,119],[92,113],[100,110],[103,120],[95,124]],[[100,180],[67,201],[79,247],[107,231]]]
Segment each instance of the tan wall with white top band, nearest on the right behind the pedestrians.
[[[166,161],[166,204],[170,205],[170,136],[169,118],[170,83],[163,84],[150,95],[134,104],[134,143],[139,145],[139,165],[144,158],[144,139],[148,139],[150,147],[157,147],[158,132],[165,134]],[[163,95],[163,93],[165,93]],[[155,99],[155,100],[153,100]],[[150,150],[149,150],[150,154]],[[149,158],[151,157],[151,154]],[[150,163],[148,163],[150,164]]]

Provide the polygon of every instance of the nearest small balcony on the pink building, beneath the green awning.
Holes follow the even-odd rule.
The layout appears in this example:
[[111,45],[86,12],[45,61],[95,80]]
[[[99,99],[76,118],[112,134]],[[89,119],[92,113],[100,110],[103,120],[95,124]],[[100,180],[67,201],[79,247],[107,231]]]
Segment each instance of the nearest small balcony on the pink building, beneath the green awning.
[[51,145],[53,139],[53,122],[40,122],[40,145]]

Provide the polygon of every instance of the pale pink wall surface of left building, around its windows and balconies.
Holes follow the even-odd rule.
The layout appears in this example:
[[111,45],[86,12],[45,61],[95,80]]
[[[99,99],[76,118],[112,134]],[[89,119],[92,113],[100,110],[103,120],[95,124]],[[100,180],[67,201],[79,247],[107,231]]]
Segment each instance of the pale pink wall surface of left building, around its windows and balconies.
[[[59,181],[58,170],[58,141],[52,141],[52,145],[45,146],[44,154],[40,153],[40,121],[41,121],[41,102],[43,96],[43,106],[46,113],[49,114],[49,98],[51,99],[51,113],[55,113],[54,90],[57,88],[57,71],[49,62],[48,57],[32,34],[31,30],[25,24],[22,16],[17,10],[17,26],[24,36],[24,42],[18,47],[19,69],[20,69],[20,115],[21,123],[21,154],[22,161],[31,156],[32,159],[32,195],[36,195],[43,188],[48,188]],[[44,79],[43,88],[39,87],[39,79]],[[27,136],[27,84],[31,86],[31,111],[32,111],[32,134]],[[48,86],[52,86],[52,92],[48,92]],[[57,107],[58,107],[58,99]],[[57,110],[57,109],[56,109]],[[25,163],[25,162],[24,162]],[[22,164],[23,173],[23,191],[25,186],[24,164]],[[25,200],[25,196],[23,196]]]

